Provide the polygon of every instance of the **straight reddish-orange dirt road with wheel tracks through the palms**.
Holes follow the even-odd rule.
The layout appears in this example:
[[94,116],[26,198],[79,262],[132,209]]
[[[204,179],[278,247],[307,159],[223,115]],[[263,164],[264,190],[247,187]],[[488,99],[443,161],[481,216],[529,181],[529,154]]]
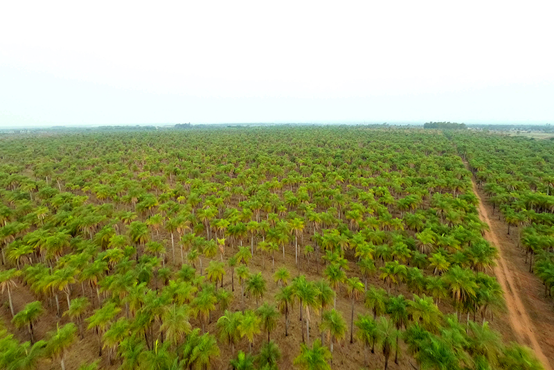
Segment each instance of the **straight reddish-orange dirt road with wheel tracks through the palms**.
[[[483,200],[477,191],[475,182],[472,179],[473,192],[479,198],[479,216],[482,221],[486,222],[488,225],[491,224],[489,220],[489,215],[485,206],[483,206]],[[548,358],[544,355],[542,348],[537,340],[535,335],[535,326],[533,321],[531,321],[528,312],[524,306],[524,303],[521,301],[520,294],[525,294],[524,292],[519,292],[517,285],[514,283],[514,276],[512,271],[506,265],[506,260],[503,256],[503,245],[499,243],[499,237],[496,234],[496,231],[491,228],[491,231],[485,232],[485,238],[495,245],[499,251],[499,259],[497,261],[498,265],[494,267],[494,274],[497,276],[497,279],[504,290],[504,298],[506,299],[506,306],[508,308],[508,317],[510,318],[510,324],[515,331],[519,339],[519,343],[526,344],[530,346],[537,358],[544,365],[545,370],[552,370]]]

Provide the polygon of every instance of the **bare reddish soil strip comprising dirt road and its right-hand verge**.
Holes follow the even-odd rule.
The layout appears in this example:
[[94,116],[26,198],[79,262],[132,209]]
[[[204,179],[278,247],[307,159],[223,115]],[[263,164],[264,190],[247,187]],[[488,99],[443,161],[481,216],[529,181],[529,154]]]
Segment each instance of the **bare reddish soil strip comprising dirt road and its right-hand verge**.
[[[477,197],[479,197],[479,215],[481,217],[481,220],[487,222],[491,230],[485,232],[485,238],[487,238],[490,243],[497,246],[499,250],[499,259],[497,266],[494,267],[494,274],[497,276],[497,279],[505,293],[504,298],[506,299],[506,306],[508,308],[508,320],[510,322],[510,325],[515,332],[518,342],[530,346],[533,351],[535,351],[537,358],[539,358],[539,360],[544,365],[544,369],[552,370],[549,361],[553,360],[552,344],[547,343],[546,341],[542,340],[542,338],[537,339],[537,337],[539,337],[537,335],[537,326],[542,326],[544,328],[545,323],[543,321],[543,318],[545,316],[552,317],[553,312],[549,308],[546,312],[544,312],[544,314],[546,315],[532,315],[530,314],[530,312],[528,312],[527,307],[529,305],[533,306],[534,311],[538,311],[541,309],[541,305],[539,305],[538,302],[535,302],[537,301],[537,299],[533,299],[533,295],[530,294],[530,290],[532,290],[533,286],[528,287],[529,283],[531,283],[532,285],[536,285],[537,281],[533,282],[533,279],[521,279],[521,275],[530,275],[530,273],[525,273],[521,270],[521,265],[524,266],[524,263],[522,263],[522,261],[515,261],[514,257],[515,254],[517,254],[514,253],[517,252],[515,250],[516,245],[514,243],[505,243],[505,240],[503,240],[504,238],[501,238],[499,233],[501,233],[503,229],[499,229],[496,222],[491,222],[488,209],[487,207],[485,207],[481,198],[481,193],[479,193],[479,191],[477,190],[475,182],[472,182],[472,184],[474,193],[477,195]],[[514,265],[520,265],[520,267],[514,268]],[[528,278],[528,276],[524,276],[524,278]],[[528,298],[527,307],[524,304],[524,301],[521,299],[521,297],[524,296]],[[534,319],[531,319],[531,316],[533,316]],[[552,331],[550,331],[550,333],[552,333]],[[546,351],[546,349],[544,349],[544,347],[546,346],[548,346],[548,352]],[[545,355],[545,352],[548,353],[548,357]]]

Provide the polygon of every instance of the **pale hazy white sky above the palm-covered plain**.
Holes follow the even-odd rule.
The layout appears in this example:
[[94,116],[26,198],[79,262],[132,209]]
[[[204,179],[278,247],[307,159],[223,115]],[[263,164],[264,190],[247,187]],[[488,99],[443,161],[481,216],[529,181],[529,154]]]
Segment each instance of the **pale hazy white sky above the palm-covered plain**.
[[0,127],[554,123],[552,1],[3,1]]

